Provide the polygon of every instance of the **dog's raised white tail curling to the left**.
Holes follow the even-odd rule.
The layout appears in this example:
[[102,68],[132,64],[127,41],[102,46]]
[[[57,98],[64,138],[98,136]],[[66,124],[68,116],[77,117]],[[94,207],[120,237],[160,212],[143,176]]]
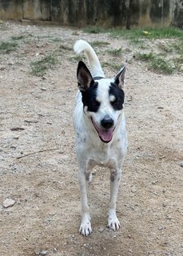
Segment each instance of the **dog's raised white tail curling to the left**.
[[86,53],[86,56],[89,60],[90,63],[90,71],[91,74],[94,77],[102,77],[105,78],[105,74],[101,69],[101,64],[97,58],[97,54],[95,54],[92,46],[90,46],[90,44],[84,40],[78,40],[75,44],[74,44],[74,51],[77,54],[81,54],[82,51],[84,51]]

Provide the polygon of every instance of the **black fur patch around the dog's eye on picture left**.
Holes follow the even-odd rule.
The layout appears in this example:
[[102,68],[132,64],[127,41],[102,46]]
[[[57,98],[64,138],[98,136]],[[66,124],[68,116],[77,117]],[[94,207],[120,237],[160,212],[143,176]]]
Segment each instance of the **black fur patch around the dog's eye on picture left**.
[[97,82],[93,82],[93,85],[90,85],[90,88],[86,91],[82,91],[82,103],[83,106],[88,107],[88,111],[97,112],[100,102],[97,102]]

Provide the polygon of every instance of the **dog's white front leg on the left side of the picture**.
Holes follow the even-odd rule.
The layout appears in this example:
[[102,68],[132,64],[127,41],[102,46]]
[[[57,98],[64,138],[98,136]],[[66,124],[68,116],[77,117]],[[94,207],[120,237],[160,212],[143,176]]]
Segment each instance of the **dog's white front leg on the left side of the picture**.
[[93,231],[90,222],[90,207],[88,205],[90,171],[80,169],[78,173],[78,180],[82,196],[82,223],[79,232],[87,236]]

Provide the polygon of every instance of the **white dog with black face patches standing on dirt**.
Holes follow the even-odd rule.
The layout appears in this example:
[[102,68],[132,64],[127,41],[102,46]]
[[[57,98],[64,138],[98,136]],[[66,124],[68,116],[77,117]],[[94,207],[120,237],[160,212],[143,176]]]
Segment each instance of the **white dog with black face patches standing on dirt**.
[[127,151],[124,114],[125,65],[114,78],[105,78],[92,46],[84,40],[74,44],[77,54],[85,52],[90,70],[78,62],[78,94],[74,109],[75,149],[78,158],[78,182],[82,201],[82,222],[79,232],[93,232],[88,205],[88,189],[94,166],[110,170],[108,227],[120,228],[116,215],[117,192],[121,181],[121,166]]

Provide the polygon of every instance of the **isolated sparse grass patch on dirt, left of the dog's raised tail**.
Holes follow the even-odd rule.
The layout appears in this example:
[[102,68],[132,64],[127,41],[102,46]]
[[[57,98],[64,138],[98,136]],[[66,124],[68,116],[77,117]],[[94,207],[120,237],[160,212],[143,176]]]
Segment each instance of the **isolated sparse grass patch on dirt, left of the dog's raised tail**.
[[55,66],[58,63],[58,59],[54,54],[49,54],[46,57],[36,61],[31,62],[31,74],[36,76],[42,76],[46,74],[46,70],[50,69],[51,67]]

